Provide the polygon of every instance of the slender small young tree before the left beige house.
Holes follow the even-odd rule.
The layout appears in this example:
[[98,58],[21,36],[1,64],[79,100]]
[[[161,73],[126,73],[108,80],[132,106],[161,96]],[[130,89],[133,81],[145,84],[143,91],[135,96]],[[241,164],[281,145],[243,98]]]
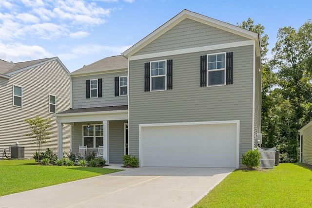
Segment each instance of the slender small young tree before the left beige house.
[[27,133],[24,136],[29,136],[34,139],[33,142],[37,144],[38,162],[40,162],[42,144],[46,144],[47,139],[50,139],[49,135],[52,134],[52,132],[48,131],[48,129],[52,128],[52,125],[50,124],[51,118],[44,119],[37,116],[35,119],[25,119],[24,122],[29,124],[31,130],[30,133]]

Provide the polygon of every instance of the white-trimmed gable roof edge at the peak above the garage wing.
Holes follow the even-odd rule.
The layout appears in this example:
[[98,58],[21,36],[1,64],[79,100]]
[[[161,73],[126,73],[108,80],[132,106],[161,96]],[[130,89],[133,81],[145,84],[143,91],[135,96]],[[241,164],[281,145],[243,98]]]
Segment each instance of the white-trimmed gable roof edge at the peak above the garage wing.
[[141,39],[139,42],[137,42],[135,45],[130,47],[128,50],[125,52],[121,53],[122,56],[124,57],[131,57],[135,53],[137,53],[139,50],[141,50],[143,47],[154,41],[156,38],[159,38],[161,35],[172,29],[174,26],[176,26],[178,23],[183,21],[184,19],[193,19],[195,21],[201,22],[203,24],[207,24],[210,26],[213,26],[215,28],[245,37],[249,38],[251,40],[255,40],[257,42],[256,44],[256,50],[257,50],[257,55],[260,55],[260,36],[257,33],[254,33],[252,31],[234,26],[232,24],[217,20],[217,19],[212,19],[204,15],[200,15],[195,12],[191,12],[189,10],[184,9],[182,12],[177,14],[174,18],[170,19],[163,25],[161,25],[159,28],[157,28],[154,32],[146,36],[145,38]]

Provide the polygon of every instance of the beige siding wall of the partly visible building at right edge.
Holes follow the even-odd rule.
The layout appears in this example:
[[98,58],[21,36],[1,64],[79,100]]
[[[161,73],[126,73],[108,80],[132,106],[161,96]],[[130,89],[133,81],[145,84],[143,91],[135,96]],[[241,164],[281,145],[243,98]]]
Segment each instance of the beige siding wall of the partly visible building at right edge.
[[302,162],[312,165],[312,126],[303,131]]

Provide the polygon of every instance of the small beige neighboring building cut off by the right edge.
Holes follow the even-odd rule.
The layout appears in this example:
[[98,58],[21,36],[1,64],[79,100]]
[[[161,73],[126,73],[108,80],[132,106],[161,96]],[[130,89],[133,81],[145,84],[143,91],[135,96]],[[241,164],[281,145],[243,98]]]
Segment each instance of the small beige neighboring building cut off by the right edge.
[[312,121],[299,130],[300,162],[312,165]]

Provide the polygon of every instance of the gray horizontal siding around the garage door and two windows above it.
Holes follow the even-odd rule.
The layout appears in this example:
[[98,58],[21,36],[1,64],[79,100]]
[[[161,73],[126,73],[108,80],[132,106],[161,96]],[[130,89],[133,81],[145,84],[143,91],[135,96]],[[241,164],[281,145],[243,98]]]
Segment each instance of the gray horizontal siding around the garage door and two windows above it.
[[[233,52],[233,85],[200,87],[200,56]],[[130,153],[138,156],[138,125],[240,120],[240,150],[253,146],[253,45],[130,61]],[[144,63],[173,59],[173,90],[144,92]]]

